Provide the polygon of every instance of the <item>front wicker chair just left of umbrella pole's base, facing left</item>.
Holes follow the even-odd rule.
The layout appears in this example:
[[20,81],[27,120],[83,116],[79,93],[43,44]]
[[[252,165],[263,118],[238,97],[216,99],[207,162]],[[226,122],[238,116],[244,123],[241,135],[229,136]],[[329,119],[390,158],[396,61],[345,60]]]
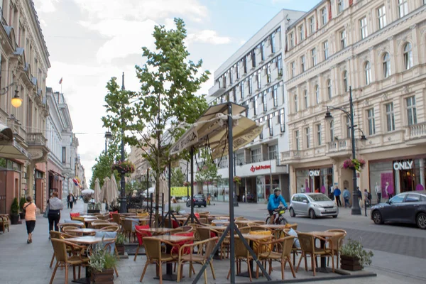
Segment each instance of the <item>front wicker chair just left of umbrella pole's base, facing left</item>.
[[[217,242],[217,237],[207,239],[204,241],[196,241],[193,244],[184,244],[179,249],[178,256],[178,282],[182,278],[182,265],[184,263],[190,263],[190,277],[192,274],[192,263],[200,263],[202,266],[207,262],[209,256],[212,254],[214,246]],[[200,248],[205,246],[204,254],[194,254],[194,248]],[[213,261],[209,262],[210,269],[212,270],[213,279],[216,280],[216,275],[214,275]],[[207,271],[204,270],[204,284],[207,284]]]

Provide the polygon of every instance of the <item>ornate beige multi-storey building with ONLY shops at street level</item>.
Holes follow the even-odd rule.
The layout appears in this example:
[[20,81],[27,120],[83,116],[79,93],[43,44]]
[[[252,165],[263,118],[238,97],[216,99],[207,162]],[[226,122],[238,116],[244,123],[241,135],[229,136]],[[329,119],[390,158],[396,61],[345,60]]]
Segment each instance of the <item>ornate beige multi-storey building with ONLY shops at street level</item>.
[[[361,190],[425,188],[426,1],[320,1],[287,30],[285,53],[291,192],[352,190],[349,87]],[[367,140],[361,141],[364,132]],[[388,194],[386,193],[388,191]]]

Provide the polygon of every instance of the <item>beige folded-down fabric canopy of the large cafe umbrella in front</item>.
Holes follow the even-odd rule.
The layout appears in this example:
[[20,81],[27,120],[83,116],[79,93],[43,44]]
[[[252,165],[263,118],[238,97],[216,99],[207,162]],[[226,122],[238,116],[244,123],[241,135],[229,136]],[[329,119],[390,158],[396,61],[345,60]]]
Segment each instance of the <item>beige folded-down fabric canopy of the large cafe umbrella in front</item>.
[[[234,124],[233,148],[234,151],[246,146],[260,135],[263,125],[256,124],[256,121],[241,116],[246,111],[246,107],[239,104],[232,104],[232,116]],[[202,148],[209,146],[212,148],[212,158],[219,158],[228,155],[227,141],[227,120],[228,103],[218,104],[209,107],[207,111],[188,129],[182,137],[173,145],[170,150],[171,155],[180,153],[186,148]]]

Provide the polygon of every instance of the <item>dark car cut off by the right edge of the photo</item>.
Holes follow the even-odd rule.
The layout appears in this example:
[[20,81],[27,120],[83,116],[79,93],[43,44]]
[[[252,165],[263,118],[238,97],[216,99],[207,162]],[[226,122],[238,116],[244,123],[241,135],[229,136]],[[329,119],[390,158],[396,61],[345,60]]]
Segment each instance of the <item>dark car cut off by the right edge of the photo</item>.
[[395,195],[386,203],[371,207],[375,224],[384,222],[417,224],[426,229],[426,191],[410,191]]

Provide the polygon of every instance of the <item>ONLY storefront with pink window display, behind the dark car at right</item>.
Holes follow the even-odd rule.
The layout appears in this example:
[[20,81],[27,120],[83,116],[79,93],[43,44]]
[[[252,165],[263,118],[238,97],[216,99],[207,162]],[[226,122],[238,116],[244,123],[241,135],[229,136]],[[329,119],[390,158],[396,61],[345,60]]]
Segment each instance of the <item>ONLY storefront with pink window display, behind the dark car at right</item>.
[[381,190],[382,198],[426,188],[426,155],[370,161],[368,170],[371,192]]

